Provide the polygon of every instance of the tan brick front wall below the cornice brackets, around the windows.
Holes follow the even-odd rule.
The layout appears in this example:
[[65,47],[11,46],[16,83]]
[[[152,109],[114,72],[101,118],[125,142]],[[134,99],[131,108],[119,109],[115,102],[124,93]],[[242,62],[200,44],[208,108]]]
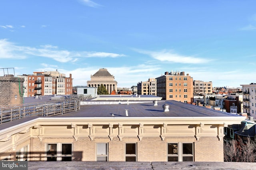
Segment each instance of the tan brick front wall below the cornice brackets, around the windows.
[[108,161],[125,161],[125,143],[137,143],[137,160],[167,161],[167,143],[194,143],[194,161],[196,162],[223,162],[223,141],[217,137],[195,138],[168,137],[164,141],[160,137],[124,137],[122,141],[114,137],[96,137],[93,141],[89,137],[74,138],[39,138],[31,139],[31,161],[44,161],[46,143],[72,143],[73,161],[96,161],[96,143],[108,143]]

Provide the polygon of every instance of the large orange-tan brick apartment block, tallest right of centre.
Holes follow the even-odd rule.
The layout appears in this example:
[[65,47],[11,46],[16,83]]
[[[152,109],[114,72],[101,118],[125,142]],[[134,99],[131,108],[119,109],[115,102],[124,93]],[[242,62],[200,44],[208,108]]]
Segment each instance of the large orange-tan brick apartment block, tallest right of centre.
[[157,96],[163,100],[176,100],[191,104],[193,102],[193,78],[185,72],[165,72],[156,78]]

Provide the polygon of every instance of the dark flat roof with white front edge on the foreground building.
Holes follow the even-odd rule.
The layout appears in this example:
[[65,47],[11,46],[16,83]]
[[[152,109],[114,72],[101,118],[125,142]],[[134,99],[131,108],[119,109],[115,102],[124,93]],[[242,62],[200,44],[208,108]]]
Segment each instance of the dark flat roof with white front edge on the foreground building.
[[[163,111],[163,105],[169,106],[169,111]],[[126,116],[126,110],[128,112],[128,116]],[[34,116],[34,117],[24,117],[22,119],[17,119],[14,121],[6,122],[0,124],[0,130],[6,129],[8,127],[12,127],[15,125],[19,125],[20,123],[25,123],[27,121],[36,119],[36,118],[44,118],[44,119],[52,119],[52,118],[216,118],[220,119],[239,119],[240,115],[226,113],[222,111],[217,111],[214,109],[208,109],[201,106],[196,106],[192,104],[185,104],[182,102],[174,101],[174,100],[160,100],[158,101],[158,105],[154,106],[153,101],[144,102],[144,103],[131,103],[131,104],[96,104],[96,105],[82,105],[80,106],[80,110],[72,111],[69,113],[64,113],[62,115],[55,116]],[[229,118],[230,117],[230,118]]]

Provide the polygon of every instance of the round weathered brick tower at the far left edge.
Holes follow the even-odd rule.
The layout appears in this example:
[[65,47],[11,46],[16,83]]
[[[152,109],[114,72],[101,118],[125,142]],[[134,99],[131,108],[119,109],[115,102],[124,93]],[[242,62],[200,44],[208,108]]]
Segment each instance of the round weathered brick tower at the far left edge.
[[23,103],[23,82],[24,78],[11,74],[0,77],[0,106]]

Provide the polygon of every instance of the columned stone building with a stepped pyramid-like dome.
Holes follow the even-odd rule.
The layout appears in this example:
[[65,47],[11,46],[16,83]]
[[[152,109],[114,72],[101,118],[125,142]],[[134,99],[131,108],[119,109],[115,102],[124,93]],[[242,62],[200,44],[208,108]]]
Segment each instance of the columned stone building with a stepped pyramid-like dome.
[[91,80],[87,81],[88,87],[99,87],[103,84],[111,94],[113,90],[117,92],[117,82],[115,77],[111,75],[106,68],[100,68],[95,74],[91,75]]

